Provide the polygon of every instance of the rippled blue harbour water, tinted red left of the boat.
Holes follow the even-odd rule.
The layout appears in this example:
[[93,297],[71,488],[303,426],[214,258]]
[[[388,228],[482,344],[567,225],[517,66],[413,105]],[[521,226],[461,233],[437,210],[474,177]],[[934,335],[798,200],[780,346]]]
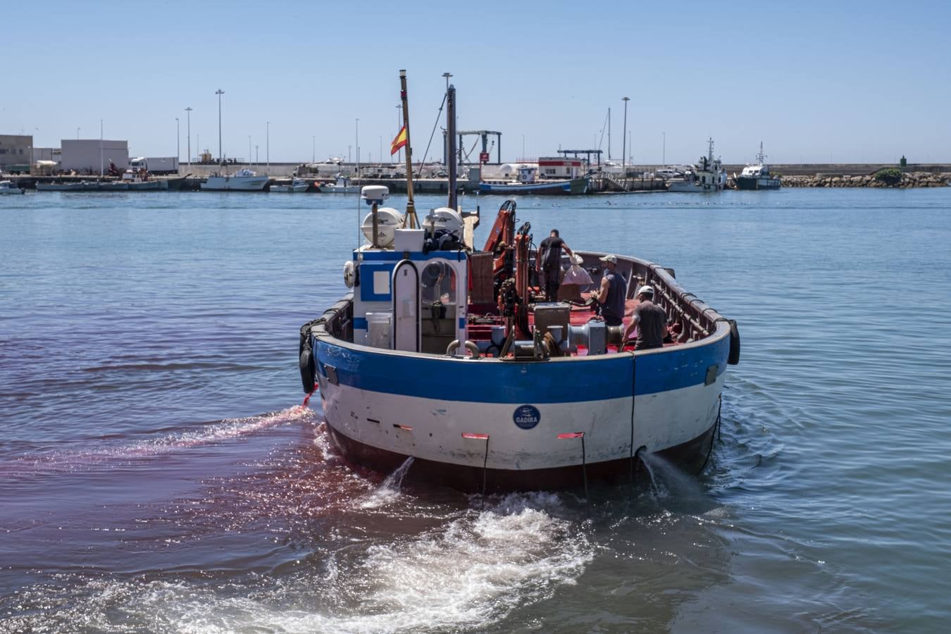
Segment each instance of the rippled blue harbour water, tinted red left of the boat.
[[0,631],[943,629],[951,189],[516,200],[737,319],[702,474],[483,501],[347,463],[297,346],[356,197],[0,199]]

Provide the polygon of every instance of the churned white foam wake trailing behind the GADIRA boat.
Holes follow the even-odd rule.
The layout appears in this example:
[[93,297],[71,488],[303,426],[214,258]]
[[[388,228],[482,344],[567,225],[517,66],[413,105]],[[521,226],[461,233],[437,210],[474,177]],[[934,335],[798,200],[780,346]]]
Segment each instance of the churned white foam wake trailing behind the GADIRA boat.
[[[270,588],[107,582],[85,602],[82,611],[92,613],[81,618],[104,629],[145,624],[203,633],[485,626],[575,583],[592,560],[587,537],[559,513],[557,496],[510,495],[416,537],[371,546],[357,561],[331,556],[326,575],[298,574]],[[328,596],[338,598],[335,605],[319,607]]]

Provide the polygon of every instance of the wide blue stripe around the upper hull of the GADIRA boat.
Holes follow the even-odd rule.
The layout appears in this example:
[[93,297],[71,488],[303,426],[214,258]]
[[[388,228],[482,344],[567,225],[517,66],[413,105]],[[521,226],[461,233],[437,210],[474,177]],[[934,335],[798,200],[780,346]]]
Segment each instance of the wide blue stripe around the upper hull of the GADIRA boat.
[[[702,385],[709,366],[727,369],[729,336],[697,348],[639,356],[634,393],[656,394]],[[592,361],[495,362],[380,354],[316,341],[320,373],[337,370],[341,385],[435,400],[570,403],[631,396],[631,355]]]

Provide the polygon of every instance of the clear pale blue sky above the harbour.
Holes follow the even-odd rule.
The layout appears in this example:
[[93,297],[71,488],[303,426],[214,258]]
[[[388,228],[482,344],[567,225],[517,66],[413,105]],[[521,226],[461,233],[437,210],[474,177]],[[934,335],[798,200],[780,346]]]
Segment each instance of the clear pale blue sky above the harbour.
[[[407,10],[401,8],[407,7]],[[0,133],[127,139],[169,156],[185,106],[192,155],[388,156],[398,69],[415,158],[454,74],[459,125],[503,132],[502,159],[589,147],[623,104],[635,163],[706,151],[773,163],[951,162],[949,2],[6,3]],[[443,125],[443,122],[440,122]],[[437,132],[437,139],[439,135]],[[471,144],[474,139],[468,143]],[[437,143],[438,146],[438,142]],[[607,149],[607,135],[601,142]],[[468,147],[467,147],[468,149]],[[354,158],[356,152],[352,151]],[[430,155],[433,155],[431,150]],[[495,152],[493,153],[495,158]],[[441,150],[437,150],[441,158]]]

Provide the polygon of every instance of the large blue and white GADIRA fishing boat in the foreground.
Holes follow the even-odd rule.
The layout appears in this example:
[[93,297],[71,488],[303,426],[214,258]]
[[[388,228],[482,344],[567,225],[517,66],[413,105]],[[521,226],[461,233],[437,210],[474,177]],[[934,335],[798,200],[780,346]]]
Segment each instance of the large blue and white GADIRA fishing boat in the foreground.
[[[455,118],[452,86],[448,102]],[[734,322],[672,270],[620,257],[629,313],[650,284],[670,318],[663,348],[633,351],[588,304],[539,298],[531,226],[516,229],[514,202],[477,250],[478,215],[456,210],[455,187],[421,226],[412,177],[407,189],[400,213],[380,206],[385,187],[363,188],[372,210],[344,265],[351,290],[301,327],[302,385],[319,392],[340,451],[379,471],[413,457],[415,476],[476,491],[627,481],[645,451],[706,462],[727,366],[739,360]],[[599,283],[604,272],[588,271],[592,285],[563,285],[566,297]]]

